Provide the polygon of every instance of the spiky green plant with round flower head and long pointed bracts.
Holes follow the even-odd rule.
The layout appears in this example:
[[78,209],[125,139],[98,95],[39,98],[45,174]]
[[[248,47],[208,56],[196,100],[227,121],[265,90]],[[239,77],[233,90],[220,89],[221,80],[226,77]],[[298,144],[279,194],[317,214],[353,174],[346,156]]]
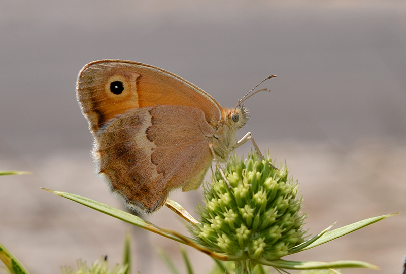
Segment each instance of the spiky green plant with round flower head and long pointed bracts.
[[[182,244],[189,245],[219,261],[232,261],[235,273],[256,273],[256,266],[267,265],[277,271],[331,268],[371,268],[361,261],[287,261],[282,257],[314,248],[395,214],[365,219],[330,231],[332,226],[313,238],[303,229],[306,215],[301,212],[302,197],[297,181],[284,166],[275,169],[267,155],[256,153],[246,160],[234,155],[227,162],[224,175],[216,170],[204,187],[204,204],[197,207],[200,220],[194,219],[175,201],[167,206],[189,222],[191,237],[158,227],[138,216],[112,208],[79,195],[53,191],[67,199],[137,225]],[[261,268],[262,269],[262,268]]]

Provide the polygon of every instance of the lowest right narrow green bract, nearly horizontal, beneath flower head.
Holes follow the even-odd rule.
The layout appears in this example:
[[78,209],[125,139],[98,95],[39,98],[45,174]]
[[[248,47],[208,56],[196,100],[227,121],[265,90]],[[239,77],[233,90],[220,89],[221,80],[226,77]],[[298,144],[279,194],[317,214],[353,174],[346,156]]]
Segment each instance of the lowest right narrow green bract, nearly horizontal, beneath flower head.
[[329,268],[370,268],[379,269],[378,266],[361,261],[332,261],[332,262],[298,262],[273,260],[258,260],[258,263],[281,269],[293,270],[312,270],[312,269],[329,269]]

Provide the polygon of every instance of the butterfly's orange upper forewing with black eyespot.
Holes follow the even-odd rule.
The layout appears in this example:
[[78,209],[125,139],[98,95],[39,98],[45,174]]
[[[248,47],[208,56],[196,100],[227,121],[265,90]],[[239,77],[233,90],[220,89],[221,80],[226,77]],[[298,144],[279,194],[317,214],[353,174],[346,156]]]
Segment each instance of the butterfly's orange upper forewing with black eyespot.
[[135,108],[195,107],[214,124],[222,109],[205,91],[171,72],[123,60],[100,60],[84,66],[78,76],[77,98],[93,134],[110,119]]

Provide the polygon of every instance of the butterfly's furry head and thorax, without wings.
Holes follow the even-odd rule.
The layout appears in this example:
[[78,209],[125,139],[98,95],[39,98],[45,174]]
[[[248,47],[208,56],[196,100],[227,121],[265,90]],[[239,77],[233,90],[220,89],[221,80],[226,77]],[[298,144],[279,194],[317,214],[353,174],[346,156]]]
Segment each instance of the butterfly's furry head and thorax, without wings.
[[231,148],[237,142],[237,131],[250,120],[248,108],[244,105],[232,109],[224,108],[221,111],[221,120],[215,127],[211,140],[213,150],[221,162],[228,159]]

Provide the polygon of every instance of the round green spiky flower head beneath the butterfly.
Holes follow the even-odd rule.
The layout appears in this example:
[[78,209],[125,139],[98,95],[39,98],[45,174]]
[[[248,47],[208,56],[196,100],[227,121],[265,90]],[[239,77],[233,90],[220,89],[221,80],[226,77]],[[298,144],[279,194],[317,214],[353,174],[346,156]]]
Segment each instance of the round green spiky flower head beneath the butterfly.
[[286,166],[268,162],[255,153],[246,161],[233,156],[223,170],[230,187],[215,172],[204,189],[205,206],[197,208],[200,224],[190,227],[199,244],[238,260],[275,260],[304,241],[297,182]]

